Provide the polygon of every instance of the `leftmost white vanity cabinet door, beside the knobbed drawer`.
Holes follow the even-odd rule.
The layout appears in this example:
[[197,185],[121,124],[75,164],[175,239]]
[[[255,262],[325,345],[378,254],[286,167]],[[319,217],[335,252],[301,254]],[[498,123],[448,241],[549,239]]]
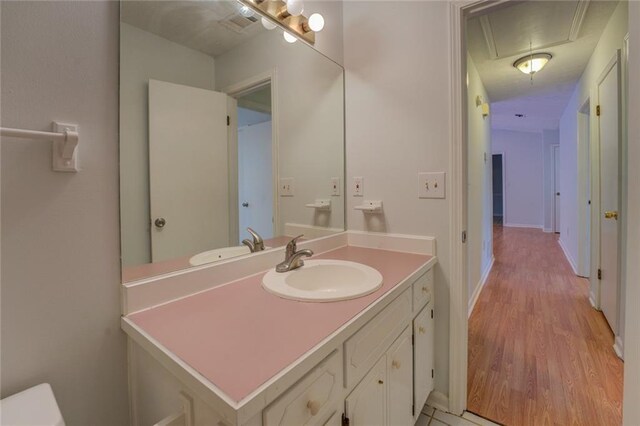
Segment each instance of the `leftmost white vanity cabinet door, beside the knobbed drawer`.
[[387,357],[382,356],[345,401],[350,426],[382,426],[387,418]]

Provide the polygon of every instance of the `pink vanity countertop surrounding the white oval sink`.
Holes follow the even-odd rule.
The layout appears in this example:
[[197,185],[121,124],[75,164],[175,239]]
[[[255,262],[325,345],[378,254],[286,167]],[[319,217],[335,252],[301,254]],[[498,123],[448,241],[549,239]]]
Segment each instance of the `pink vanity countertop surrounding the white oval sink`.
[[358,299],[297,302],[265,291],[261,285],[264,274],[258,274],[128,318],[239,402],[431,256],[343,247],[314,259],[369,265],[380,271],[383,285]]

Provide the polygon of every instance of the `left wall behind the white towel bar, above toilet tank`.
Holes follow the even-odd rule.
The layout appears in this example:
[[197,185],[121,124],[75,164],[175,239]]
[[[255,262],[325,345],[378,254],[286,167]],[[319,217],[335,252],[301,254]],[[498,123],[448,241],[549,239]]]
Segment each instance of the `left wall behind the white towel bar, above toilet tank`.
[[2,125],[80,125],[77,174],[51,144],[2,140],[2,396],[51,383],[67,425],[126,425],[118,232],[118,3],[2,2]]

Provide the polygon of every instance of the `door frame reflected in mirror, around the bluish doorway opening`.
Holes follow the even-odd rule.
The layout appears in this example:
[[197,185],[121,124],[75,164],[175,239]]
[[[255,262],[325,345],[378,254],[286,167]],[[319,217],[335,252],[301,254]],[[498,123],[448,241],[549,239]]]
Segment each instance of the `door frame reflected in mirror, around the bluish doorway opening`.
[[[273,202],[273,235],[280,235],[280,211],[278,209],[278,70],[256,74],[238,83],[232,84],[222,91],[232,98],[250,92],[258,87],[271,84],[271,168],[272,168],[272,202]],[[233,123],[232,123],[233,124]],[[237,120],[235,122],[237,127]],[[238,140],[229,138],[229,227],[230,234],[239,235],[239,206],[238,206]]]

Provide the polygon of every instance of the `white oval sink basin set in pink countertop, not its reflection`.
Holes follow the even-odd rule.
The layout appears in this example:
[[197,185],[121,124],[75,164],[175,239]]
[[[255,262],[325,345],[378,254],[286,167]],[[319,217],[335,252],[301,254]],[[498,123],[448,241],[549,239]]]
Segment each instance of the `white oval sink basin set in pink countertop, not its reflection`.
[[289,272],[266,273],[262,286],[285,299],[334,302],[373,293],[382,286],[380,272],[345,260],[305,260],[304,266]]

